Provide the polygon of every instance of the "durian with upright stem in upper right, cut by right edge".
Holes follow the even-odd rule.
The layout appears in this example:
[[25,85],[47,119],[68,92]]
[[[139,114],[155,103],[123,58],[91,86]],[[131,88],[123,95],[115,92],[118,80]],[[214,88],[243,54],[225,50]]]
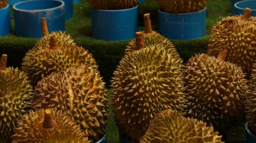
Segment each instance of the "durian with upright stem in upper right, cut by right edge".
[[256,17],[250,17],[250,9],[244,15],[225,17],[211,32],[207,53],[218,56],[223,46],[228,46],[227,61],[238,64],[251,73],[256,63]]

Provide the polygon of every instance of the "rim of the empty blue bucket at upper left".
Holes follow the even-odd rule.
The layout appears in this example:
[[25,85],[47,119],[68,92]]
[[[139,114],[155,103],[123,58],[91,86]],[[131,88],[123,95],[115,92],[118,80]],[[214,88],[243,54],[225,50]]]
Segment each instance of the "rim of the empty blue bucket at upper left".
[[[24,10],[24,9],[18,9],[16,8],[16,5],[22,4],[22,3],[29,3],[29,2],[33,2],[33,1],[56,1],[56,2],[60,2],[61,5],[54,7],[54,8],[50,8],[50,9],[41,9],[41,10]],[[42,11],[49,11],[49,10],[55,10],[61,7],[64,7],[65,3],[63,1],[59,1],[59,0],[30,0],[30,1],[22,1],[22,2],[18,2],[15,5],[13,5],[13,10],[16,11],[23,11],[23,12],[42,12]]]

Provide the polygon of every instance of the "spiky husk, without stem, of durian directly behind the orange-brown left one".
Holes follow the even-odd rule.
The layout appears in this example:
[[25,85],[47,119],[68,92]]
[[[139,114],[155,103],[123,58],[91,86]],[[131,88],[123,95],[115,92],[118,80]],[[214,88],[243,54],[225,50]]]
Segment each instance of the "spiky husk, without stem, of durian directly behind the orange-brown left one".
[[93,55],[80,46],[67,44],[59,46],[56,50],[49,47],[49,44],[34,47],[23,59],[22,70],[28,74],[33,85],[42,77],[73,66],[88,64],[95,69],[98,68]]

